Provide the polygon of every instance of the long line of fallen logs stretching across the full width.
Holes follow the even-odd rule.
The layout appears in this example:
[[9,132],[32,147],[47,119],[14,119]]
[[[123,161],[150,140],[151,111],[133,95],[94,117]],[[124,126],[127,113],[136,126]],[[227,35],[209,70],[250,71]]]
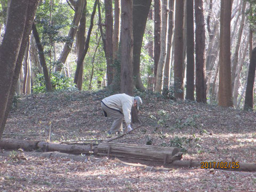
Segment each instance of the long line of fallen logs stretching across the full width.
[[[59,151],[68,154],[98,154],[114,157],[127,157],[133,159],[144,159],[150,161],[163,162],[164,164],[182,167],[201,167],[202,161],[180,161],[182,153],[178,148],[158,147],[158,146],[137,146],[127,143],[100,143],[99,146],[82,145],[61,145],[57,143],[47,143],[43,141],[1,139],[0,148],[6,150],[23,149],[26,151]],[[221,169],[215,165],[215,169],[229,171],[256,171],[256,163],[239,162],[239,167],[232,169]]]

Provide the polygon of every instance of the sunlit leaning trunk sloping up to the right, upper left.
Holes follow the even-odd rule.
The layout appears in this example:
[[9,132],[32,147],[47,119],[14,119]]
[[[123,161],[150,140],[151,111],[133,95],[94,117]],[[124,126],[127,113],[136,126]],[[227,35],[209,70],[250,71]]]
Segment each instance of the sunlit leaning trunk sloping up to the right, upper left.
[[70,41],[66,42],[64,45],[64,48],[60,54],[60,58],[58,60],[59,65],[56,67],[56,71],[61,71],[63,65],[65,65],[65,62],[68,58],[68,54],[71,51],[72,45],[73,45],[73,40],[76,36],[76,31],[78,28],[78,23],[82,17],[82,13],[84,10],[84,3],[86,0],[77,0],[74,3],[74,7],[75,7],[75,14],[74,14],[74,18],[72,21],[72,25],[71,28],[69,29],[69,33],[68,33],[68,38],[70,39]]

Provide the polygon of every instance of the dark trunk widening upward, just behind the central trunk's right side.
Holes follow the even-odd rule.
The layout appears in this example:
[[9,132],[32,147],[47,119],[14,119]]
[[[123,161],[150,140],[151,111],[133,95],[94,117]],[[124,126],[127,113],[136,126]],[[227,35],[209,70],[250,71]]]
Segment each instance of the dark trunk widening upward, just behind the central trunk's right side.
[[140,53],[151,1],[133,0],[133,79],[135,87],[140,91],[146,90],[140,77]]

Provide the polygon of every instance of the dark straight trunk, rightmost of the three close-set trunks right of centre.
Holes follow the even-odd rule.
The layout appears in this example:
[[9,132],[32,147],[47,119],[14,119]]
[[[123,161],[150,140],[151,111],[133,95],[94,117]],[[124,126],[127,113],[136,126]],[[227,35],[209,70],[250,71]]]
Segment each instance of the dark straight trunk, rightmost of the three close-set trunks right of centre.
[[203,0],[195,0],[196,18],[196,101],[206,103],[205,24]]

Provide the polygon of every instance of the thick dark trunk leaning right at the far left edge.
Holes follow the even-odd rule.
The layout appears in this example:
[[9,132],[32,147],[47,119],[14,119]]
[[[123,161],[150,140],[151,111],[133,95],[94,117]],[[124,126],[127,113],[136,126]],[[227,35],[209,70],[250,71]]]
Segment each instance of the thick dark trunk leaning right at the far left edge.
[[0,46],[0,139],[17,86],[22,59],[39,0],[12,0]]

